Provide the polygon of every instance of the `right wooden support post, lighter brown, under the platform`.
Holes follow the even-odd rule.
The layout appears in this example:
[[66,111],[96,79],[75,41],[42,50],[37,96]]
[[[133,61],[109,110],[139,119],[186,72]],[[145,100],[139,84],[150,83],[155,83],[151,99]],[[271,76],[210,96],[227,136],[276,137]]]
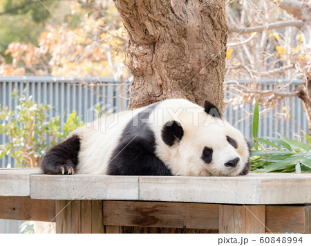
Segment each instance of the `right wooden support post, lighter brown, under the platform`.
[[219,233],[265,233],[265,205],[220,205]]

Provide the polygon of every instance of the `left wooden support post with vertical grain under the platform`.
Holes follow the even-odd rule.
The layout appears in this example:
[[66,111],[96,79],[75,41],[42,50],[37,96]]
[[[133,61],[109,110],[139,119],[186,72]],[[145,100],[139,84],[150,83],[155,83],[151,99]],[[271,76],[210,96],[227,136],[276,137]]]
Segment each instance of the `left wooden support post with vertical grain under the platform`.
[[104,233],[102,200],[57,200],[56,233]]

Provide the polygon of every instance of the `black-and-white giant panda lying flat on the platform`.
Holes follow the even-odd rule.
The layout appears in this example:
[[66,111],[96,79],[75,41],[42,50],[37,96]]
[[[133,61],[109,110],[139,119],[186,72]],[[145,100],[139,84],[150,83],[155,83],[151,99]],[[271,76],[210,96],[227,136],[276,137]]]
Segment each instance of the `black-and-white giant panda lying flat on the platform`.
[[46,152],[41,169],[46,174],[243,176],[249,172],[249,146],[214,104],[169,99],[76,129]]

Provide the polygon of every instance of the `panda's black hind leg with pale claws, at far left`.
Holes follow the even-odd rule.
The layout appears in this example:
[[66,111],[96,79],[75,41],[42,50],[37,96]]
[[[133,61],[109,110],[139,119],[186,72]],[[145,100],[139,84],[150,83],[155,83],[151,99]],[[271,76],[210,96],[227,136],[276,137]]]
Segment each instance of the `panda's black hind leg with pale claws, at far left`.
[[46,174],[62,174],[62,167],[64,167],[64,174],[68,174],[70,167],[75,171],[79,150],[80,139],[77,135],[73,135],[49,149],[42,158],[40,167]]

